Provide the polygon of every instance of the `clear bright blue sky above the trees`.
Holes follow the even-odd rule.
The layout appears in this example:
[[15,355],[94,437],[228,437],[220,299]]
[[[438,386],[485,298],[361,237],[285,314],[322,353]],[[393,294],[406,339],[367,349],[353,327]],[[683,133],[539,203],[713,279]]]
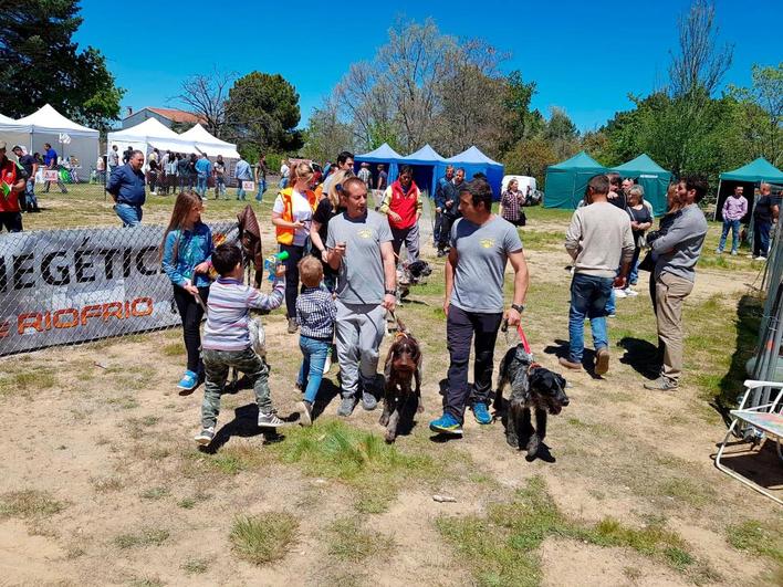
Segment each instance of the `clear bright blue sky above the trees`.
[[[326,17],[325,6],[333,7]],[[194,73],[219,70],[280,73],[301,96],[302,124],[347,71],[370,60],[398,15],[432,17],[441,32],[481,36],[537,83],[533,106],[565,108],[581,129],[601,126],[627,109],[628,93],[646,95],[667,76],[677,45],[677,17],[689,0],[657,2],[188,2],[125,3],[83,0],[75,35],[107,57],[123,106],[176,107],[170,98]],[[150,7],[154,7],[150,10]],[[720,36],[734,43],[725,82],[750,84],[753,63],[783,60],[775,23],[783,2],[719,0]],[[770,28],[764,30],[764,23]],[[285,31],[285,32],[283,32]],[[125,112],[125,109],[124,109]]]

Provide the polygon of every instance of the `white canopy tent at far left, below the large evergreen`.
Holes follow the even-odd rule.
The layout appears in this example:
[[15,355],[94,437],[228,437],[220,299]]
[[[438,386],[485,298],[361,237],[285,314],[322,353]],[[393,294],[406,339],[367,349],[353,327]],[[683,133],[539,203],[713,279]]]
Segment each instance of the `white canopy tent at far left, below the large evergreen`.
[[23,145],[30,153],[43,154],[43,144],[49,143],[60,158],[76,157],[85,170],[97,159],[98,135],[97,130],[67,119],[49,104],[18,120],[0,119],[0,140],[6,140],[9,147]]

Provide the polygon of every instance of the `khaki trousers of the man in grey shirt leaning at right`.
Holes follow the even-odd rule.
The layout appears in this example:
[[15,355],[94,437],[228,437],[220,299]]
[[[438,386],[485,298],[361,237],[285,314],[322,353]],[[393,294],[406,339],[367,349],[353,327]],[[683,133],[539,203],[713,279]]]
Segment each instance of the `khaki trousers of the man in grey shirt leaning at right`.
[[671,273],[661,273],[655,283],[658,338],[664,345],[661,374],[675,382],[682,373],[682,303],[692,290],[693,282]]

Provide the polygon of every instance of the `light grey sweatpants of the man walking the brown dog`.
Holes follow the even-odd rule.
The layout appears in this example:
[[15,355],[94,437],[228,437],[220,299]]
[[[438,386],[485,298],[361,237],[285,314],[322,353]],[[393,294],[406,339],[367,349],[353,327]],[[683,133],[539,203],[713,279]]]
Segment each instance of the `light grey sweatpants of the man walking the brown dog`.
[[344,304],[336,318],[337,359],[343,397],[356,397],[359,378],[370,390],[378,369],[378,349],[386,333],[386,310],[382,305]]

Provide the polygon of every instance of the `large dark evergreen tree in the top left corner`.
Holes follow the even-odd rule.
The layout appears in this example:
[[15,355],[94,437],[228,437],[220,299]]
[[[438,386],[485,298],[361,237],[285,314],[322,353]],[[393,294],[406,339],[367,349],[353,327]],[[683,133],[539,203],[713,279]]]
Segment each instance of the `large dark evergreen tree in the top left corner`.
[[21,117],[51,104],[63,115],[106,130],[119,117],[124,90],[103,54],[80,51],[76,0],[4,2],[0,10],[0,112]]

